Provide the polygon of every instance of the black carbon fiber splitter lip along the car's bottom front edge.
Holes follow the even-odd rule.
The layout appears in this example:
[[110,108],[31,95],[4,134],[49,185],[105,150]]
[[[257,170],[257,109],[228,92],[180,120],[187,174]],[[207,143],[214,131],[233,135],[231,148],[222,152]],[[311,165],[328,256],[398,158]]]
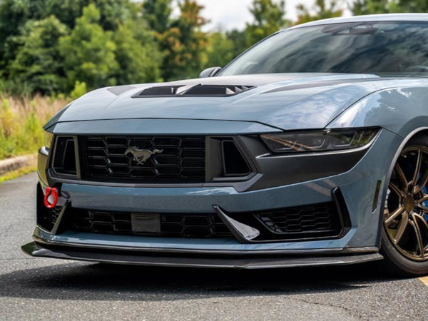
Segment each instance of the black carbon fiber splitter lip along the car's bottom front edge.
[[100,251],[76,249],[70,247],[44,248],[32,242],[21,248],[24,253],[34,257],[61,258],[66,260],[83,260],[98,263],[114,263],[127,265],[165,266],[165,267],[215,267],[238,269],[262,269],[279,267],[310,267],[320,265],[350,265],[382,260],[379,253],[356,255],[302,256],[302,257],[265,257],[253,258],[236,256],[203,255],[162,255],[162,253],[132,253],[126,251]]

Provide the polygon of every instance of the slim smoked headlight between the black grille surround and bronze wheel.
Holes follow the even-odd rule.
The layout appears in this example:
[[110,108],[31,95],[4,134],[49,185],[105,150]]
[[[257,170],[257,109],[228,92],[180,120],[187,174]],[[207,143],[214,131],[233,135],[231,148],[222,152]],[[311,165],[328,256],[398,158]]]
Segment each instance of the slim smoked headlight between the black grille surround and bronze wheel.
[[370,143],[379,128],[335,129],[264,134],[260,137],[273,153],[340,151]]

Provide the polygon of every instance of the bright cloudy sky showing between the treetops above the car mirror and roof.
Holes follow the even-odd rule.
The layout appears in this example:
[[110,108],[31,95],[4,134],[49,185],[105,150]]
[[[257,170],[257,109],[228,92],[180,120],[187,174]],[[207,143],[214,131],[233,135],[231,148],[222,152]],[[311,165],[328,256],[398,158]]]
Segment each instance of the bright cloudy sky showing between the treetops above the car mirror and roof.
[[[206,25],[204,31],[215,29],[244,29],[245,22],[251,21],[251,14],[248,10],[253,0],[198,0],[199,4],[205,6],[202,14],[210,19],[210,24]],[[315,0],[287,0],[285,1],[287,19],[295,20],[297,17],[295,6],[305,4],[312,7]]]

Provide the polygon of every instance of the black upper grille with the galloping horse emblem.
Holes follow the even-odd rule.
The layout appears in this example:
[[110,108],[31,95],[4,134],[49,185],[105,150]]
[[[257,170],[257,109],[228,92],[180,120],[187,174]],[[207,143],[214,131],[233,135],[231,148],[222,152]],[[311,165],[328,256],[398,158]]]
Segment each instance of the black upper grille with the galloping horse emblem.
[[86,178],[127,183],[205,182],[205,137],[83,137]]

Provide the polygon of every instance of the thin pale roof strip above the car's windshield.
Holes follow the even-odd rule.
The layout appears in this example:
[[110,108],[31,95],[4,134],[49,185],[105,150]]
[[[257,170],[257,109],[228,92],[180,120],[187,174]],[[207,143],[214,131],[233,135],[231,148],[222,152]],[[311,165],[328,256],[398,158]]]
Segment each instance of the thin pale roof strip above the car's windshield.
[[290,29],[302,28],[306,26],[320,26],[324,24],[341,24],[347,22],[366,21],[428,21],[428,14],[367,14],[366,16],[350,16],[340,18],[322,19],[300,24]]

